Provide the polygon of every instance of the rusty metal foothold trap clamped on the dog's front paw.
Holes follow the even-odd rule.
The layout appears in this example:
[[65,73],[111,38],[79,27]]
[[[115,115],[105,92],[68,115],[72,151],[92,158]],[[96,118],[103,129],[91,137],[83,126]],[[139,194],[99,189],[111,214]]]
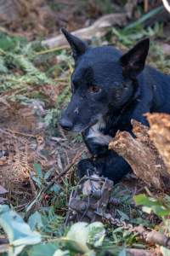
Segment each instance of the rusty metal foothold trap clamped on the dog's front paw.
[[66,223],[70,221],[94,222],[101,220],[111,199],[113,182],[94,174],[85,176],[72,190],[69,200]]

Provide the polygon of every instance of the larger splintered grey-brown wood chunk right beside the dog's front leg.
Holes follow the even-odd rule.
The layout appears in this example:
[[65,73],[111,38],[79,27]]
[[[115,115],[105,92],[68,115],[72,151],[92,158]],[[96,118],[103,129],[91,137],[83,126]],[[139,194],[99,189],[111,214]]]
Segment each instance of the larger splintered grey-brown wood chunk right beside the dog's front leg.
[[148,135],[149,128],[134,121],[132,137],[127,131],[117,132],[109,148],[127,160],[137,177],[156,189],[169,190],[167,168]]

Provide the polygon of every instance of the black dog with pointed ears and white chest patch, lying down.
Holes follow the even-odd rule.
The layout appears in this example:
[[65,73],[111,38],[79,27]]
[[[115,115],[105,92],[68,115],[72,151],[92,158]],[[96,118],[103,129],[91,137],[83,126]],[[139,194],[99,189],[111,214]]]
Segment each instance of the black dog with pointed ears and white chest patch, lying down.
[[148,125],[147,112],[170,113],[170,76],[144,67],[148,38],[126,54],[111,46],[89,47],[65,31],[75,70],[71,102],[59,121],[67,131],[82,132],[94,160],[81,160],[80,176],[87,170],[117,182],[131,170],[122,157],[108,149],[116,131],[132,132],[131,119]]

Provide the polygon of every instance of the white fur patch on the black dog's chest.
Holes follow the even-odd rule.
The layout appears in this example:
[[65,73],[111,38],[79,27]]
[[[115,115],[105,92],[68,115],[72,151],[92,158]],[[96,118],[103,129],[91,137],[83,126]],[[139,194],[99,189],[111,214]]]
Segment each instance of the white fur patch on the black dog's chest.
[[111,136],[105,135],[103,131],[105,130],[105,121],[99,119],[98,123],[89,128],[87,133],[87,139],[97,143],[99,145],[108,145],[111,141]]

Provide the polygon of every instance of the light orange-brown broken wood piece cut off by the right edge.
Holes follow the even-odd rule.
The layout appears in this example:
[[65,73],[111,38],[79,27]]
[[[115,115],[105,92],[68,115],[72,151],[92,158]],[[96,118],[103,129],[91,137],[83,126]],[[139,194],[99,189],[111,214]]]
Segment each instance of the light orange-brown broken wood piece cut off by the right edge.
[[150,123],[150,138],[161,154],[167,172],[170,174],[170,115],[165,113],[147,114]]

